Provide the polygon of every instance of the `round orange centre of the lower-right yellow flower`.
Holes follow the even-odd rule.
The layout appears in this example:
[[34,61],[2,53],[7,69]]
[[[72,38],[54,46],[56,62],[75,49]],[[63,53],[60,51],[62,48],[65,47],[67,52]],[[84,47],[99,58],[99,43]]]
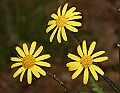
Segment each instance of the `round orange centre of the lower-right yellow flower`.
[[83,56],[80,59],[80,63],[85,68],[90,67],[92,65],[92,58],[90,56]]

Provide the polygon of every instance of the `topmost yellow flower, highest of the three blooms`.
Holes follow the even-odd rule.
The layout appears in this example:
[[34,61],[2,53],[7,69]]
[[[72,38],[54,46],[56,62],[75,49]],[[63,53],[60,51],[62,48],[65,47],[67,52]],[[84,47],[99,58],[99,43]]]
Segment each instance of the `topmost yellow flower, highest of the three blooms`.
[[60,6],[57,10],[57,15],[54,13],[51,15],[51,17],[54,20],[50,20],[48,22],[48,25],[50,25],[50,26],[46,29],[46,33],[50,32],[50,30],[52,30],[53,28],[55,28],[55,27],[56,28],[54,29],[54,31],[52,32],[52,34],[50,36],[50,42],[52,42],[57,31],[58,31],[57,32],[57,40],[59,43],[61,43],[61,35],[62,35],[62,38],[65,41],[67,41],[65,27],[72,32],[78,32],[78,29],[73,26],[77,26],[77,27],[82,26],[82,24],[80,22],[73,21],[75,19],[81,19],[82,16],[79,15],[81,13],[74,12],[76,10],[75,7],[72,7],[68,11],[66,11],[67,6],[68,6],[68,3],[66,3],[64,5],[62,12],[61,12],[61,6]]

